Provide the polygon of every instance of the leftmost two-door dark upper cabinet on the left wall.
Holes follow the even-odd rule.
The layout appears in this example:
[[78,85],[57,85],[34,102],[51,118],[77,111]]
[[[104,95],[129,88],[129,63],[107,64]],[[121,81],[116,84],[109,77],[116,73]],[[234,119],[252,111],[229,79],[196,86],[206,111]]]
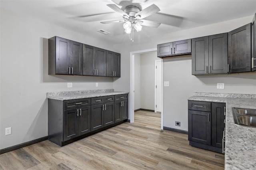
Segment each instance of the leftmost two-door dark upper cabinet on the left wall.
[[48,47],[49,75],[82,75],[82,43],[55,36]]

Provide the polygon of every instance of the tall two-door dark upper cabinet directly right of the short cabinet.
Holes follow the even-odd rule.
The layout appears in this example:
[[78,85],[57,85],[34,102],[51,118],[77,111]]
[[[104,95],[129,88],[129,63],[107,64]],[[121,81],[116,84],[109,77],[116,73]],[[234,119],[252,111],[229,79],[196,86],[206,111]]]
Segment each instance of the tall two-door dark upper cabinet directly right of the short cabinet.
[[192,39],[192,75],[228,73],[228,34]]

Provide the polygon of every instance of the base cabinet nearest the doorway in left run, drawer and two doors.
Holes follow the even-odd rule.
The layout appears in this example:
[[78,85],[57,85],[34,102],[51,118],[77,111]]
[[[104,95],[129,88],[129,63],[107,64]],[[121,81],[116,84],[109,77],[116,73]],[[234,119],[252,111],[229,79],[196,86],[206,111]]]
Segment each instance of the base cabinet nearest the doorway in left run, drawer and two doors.
[[128,95],[115,96],[114,122],[128,119]]

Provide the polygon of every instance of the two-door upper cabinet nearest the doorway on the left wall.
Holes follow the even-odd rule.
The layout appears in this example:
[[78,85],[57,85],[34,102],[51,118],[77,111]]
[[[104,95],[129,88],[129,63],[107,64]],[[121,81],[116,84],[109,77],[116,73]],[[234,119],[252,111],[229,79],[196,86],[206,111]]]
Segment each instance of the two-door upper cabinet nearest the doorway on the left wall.
[[120,77],[120,53],[108,51],[106,54],[106,76]]

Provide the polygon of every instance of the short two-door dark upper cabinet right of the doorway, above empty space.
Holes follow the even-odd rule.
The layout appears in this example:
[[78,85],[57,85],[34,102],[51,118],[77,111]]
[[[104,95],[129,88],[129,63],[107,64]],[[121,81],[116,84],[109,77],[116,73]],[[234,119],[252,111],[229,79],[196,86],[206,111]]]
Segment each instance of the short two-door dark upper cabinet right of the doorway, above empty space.
[[157,45],[158,57],[171,57],[191,53],[191,39]]

